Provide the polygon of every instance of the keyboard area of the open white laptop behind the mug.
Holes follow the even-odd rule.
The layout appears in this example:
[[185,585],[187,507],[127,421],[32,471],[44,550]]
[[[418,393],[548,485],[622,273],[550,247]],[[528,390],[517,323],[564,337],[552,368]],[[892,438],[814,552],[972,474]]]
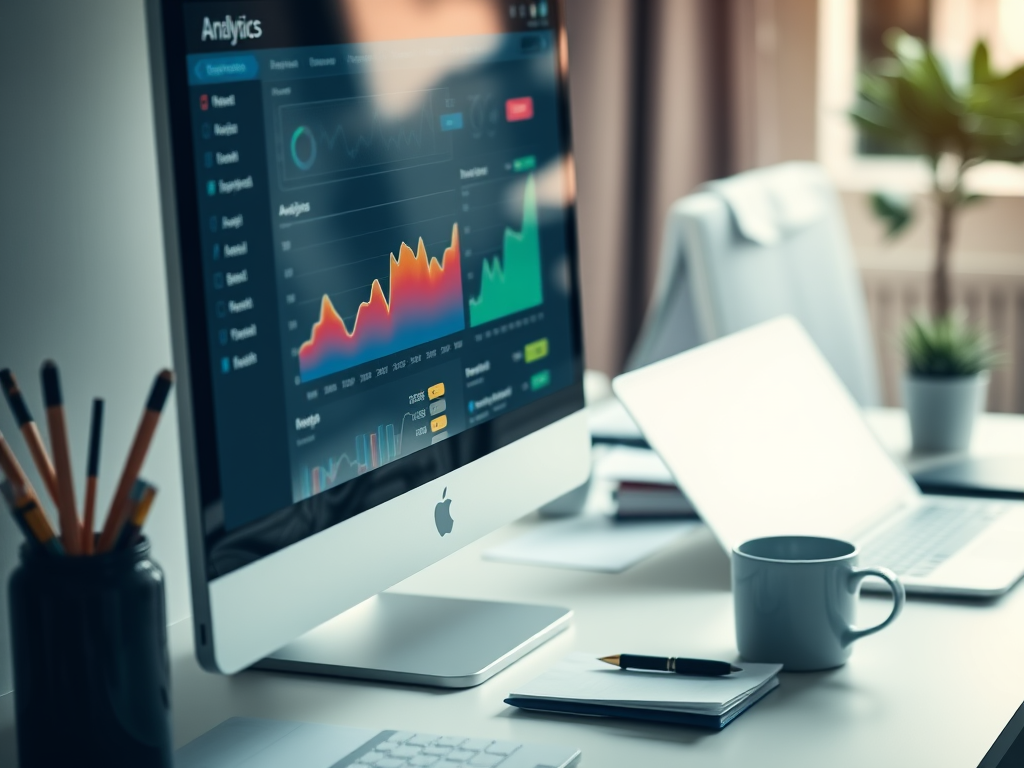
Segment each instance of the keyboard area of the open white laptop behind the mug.
[[927,502],[862,548],[860,562],[923,579],[1007,510],[990,501]]

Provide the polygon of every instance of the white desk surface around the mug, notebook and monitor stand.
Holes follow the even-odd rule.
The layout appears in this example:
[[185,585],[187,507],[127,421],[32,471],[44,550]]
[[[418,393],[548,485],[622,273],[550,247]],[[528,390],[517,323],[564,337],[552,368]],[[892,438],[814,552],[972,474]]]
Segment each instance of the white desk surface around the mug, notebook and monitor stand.
[[[901,415],[870,418],[899,455]],[[1024,455],[1024,417],[986,417],[977,437],[976,453]],[[176,743],[238,715],[564,743],[583,750],[587,767],[973,768],[1024,700],[1018,588],[989,603],[911,598],[891,628],[857,643],[844,668],[782,674],[775,692],[722,732],[520,712],[505,695],[572,650],[736,657],[729,562],[707,529],[621,574],[481,559],[483,549],[540,524],[531,515],[399,586],[575,611],[566,633],[495,678],[462,691],[267,672],[224,678],[199,669],[190,623],[181,622],[170,631]],[[861,602],[864,623],[888,610],[886,598]]]

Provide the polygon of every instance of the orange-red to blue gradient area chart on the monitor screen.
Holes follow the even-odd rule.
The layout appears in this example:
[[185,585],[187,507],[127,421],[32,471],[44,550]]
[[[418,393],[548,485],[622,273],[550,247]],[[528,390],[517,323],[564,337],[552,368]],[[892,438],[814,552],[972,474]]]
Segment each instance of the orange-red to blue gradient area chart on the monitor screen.
[[359,304],[349,331],[331,303],[321,301],[319,319],[309,340],[299,347],[303,382],[344,371],[369,360],[425,344],[466,327],[462,308],[459,225],[452,227],[452,245],[437,259],[427,256],[421,238],[416,249],[404,243],[391,254],[388,296],[380,281],[370,287],[370,299]]

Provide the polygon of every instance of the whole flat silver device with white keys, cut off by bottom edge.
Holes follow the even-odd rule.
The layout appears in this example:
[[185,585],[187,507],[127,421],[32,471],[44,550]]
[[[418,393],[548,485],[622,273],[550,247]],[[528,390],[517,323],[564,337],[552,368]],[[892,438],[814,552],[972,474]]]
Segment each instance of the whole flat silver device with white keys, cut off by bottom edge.
[[568,768],[580,751],[321,723],[231,718],[188,742],[177,768]]

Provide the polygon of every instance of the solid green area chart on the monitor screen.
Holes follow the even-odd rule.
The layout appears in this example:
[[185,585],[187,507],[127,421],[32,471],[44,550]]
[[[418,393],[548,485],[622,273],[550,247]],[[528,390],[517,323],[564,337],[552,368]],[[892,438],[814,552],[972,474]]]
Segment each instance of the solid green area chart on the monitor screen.
[[537,182],[530,174],[522,197],[522,227],[505,227],[501,261],[497,256],[484,260],[480,293],[469,300],[469,325],[482,326],[543,302]]

